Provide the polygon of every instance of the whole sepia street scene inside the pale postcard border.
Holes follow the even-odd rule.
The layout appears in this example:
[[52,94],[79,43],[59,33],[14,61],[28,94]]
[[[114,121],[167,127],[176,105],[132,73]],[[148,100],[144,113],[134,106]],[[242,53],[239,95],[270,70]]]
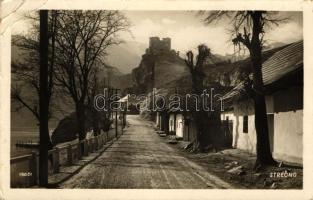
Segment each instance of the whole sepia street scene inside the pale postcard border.
[[303,84],[302,12],[25,12],[10,187],[302,189]]

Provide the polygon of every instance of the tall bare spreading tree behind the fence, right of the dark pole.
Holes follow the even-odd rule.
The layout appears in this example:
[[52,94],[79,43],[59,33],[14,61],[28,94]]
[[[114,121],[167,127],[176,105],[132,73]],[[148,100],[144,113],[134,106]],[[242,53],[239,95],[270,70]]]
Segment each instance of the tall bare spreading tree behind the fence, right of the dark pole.
[[117,34],[126,31],[128,26],[127,18],[118,11],[58,13],[55,78],[75,103],[79,140],[86,137],[86,106],[92,71],[106,55],[107,47],[121,42]]

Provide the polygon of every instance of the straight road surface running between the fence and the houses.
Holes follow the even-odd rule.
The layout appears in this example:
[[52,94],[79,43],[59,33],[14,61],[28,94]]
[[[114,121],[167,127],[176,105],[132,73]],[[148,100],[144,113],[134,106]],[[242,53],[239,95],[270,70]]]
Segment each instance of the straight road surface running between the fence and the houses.
[[153,130],[149,121],[127,116],[129,126],[118,141],[61,188],[231,188],[184,157]]

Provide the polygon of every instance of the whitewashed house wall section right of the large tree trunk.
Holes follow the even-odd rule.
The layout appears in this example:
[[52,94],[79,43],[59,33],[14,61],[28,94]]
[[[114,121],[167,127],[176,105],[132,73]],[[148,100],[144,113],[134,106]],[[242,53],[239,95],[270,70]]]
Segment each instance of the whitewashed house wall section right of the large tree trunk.
[[302,163],[303,88],[292,87],[273,94],[274,157]]

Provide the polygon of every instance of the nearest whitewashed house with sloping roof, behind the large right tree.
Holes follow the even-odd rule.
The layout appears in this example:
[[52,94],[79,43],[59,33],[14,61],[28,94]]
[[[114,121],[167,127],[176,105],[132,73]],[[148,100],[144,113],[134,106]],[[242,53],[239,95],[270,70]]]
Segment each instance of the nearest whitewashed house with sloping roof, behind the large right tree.
[[[302,163],[303,148],[303,41],[287,45],[262,67],[269,139],[273,157]],[[222,113],[232,133],[234,148],[256,153],[254,102],[238,84],[224,96],[231,102]]]

